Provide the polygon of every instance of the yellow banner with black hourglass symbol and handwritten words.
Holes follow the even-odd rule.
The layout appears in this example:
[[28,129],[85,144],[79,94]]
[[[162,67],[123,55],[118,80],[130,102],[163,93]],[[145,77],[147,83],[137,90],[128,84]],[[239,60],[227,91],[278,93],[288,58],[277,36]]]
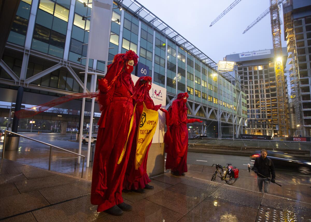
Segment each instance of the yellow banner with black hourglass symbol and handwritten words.
[[138,169],[142,165],[147,148],[156,132],[156,125],[159,118],[158,111],[147,109],[145,103],[143,103],[143,106],[144,108],[140,116],[140,123],[137,131],[135,169]]

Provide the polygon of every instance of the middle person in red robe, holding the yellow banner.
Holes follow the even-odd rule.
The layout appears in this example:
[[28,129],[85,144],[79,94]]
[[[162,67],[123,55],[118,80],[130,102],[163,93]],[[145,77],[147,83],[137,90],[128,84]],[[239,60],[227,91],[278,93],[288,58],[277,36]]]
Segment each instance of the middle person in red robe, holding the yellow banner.
[[[151,89],[151,80],[152,78],[150,76],[142,76],[140,77],[136,84],[135,84],[135,97],[137,101],[136,106],[136,130],[135,135],[137,135],[137,131],[139,129],[140,124],[140,116],[142,115],[143,111],[143,102],[146,105],[147,109],[158,111],[161,105],[154,105],[150,95],[149,90]],[[146,155],[143,159],[142,165],[138,167],[138,169],[135,169],[135,155],[136,155],[136,136],[134,136],[134,141],[132,143],[132,150],[130,154],[130,159],[128,161],[128,166],[126,169],[124,181],[123,181],[123,189],[124,190],[132,190],[137,193],[144,193],[145,189],[152,190],[154,187],[148,185],[151,180],[148,177],[147,174],[147,158],[148,158],[148,151],[150,149],[152,141],[148,145]]]

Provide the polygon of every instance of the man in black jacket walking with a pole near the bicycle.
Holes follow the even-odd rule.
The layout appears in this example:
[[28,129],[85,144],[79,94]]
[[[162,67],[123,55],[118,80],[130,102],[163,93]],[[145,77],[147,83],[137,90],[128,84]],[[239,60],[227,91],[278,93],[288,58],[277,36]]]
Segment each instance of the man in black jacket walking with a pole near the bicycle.
[[268,177],[268,178],[270,178],[270,176],[272,175],[271,182],[272,183],[275,182],[274,165],[273,165],[272,160],[270,158],[267,158],[267,150],[265,149],[261,150],[261,156],[255,159],[253,170],[255,173],[257,173],[257,184],[258,184],[259,191],[262,192],[262,182],[264,182],[264,187],[265,187],[264,191],[265,193],[269,193],[270,181],[258,174],[260,173],[263,176]]

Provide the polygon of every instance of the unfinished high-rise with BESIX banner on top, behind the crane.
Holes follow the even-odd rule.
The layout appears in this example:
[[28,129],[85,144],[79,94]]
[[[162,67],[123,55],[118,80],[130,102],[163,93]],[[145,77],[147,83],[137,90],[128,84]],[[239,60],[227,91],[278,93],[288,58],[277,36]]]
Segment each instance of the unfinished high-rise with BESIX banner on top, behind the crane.
[[[283,64],[287,51],[282,48]],[[226,61],[238,64],[238,75],[247,94],[247,134],[281,136],[278,125],[278,103],[276,95],[276,73],[274,51],[260,50],[225,56]],[[285,68],[285,67],[284,67]],[[285,77],[286,79],[286,77]],[[287,83],[285,82],[288,104]],[[287,107],[289,107],[287,105]],[[287,121],[289,111],[286,111]]]

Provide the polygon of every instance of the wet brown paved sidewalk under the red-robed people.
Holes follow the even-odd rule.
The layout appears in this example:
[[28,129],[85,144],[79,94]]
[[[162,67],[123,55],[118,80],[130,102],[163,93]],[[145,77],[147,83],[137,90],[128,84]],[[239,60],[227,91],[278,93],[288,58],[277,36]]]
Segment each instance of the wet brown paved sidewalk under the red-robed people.
[[[133,210],[122,216],[97,213],[91,181],[0,159],[0,220],[3,221],[310,221],[309,177],[278,177],[282,188],[256,190],[256,178],[240,171],[234,186],[209,181],[210,167],[189,165],[186,176],[169,172],[151,179],[154,190],[123,193]],[[308,181],[307,181],[308,178]],[[284,189],[284,187],[287,187]],[[300,200],[300,201],[296,201]]]

